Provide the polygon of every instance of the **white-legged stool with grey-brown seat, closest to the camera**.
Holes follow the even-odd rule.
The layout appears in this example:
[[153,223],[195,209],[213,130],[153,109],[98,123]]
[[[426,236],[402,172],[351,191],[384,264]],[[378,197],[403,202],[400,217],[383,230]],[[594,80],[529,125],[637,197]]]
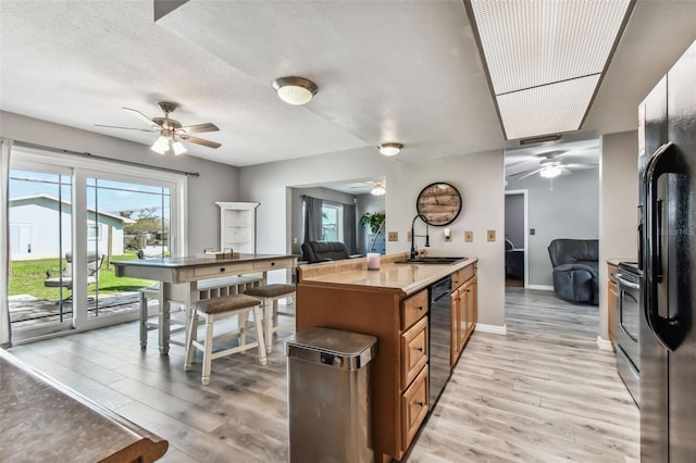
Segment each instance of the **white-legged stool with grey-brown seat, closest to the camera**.
[[[257,327],[257,341],[247,342],[247,318],[249,312],[253,312],[253,322]],[[213,336],[213,324],[223,318],[237,315],[238,329],[219,336]],[[198,317],[202,317],[206,323],[206,340],[199,342],[197,339]],[[237,352],[245,352],[249,349],[258,348],[259,363],[266,364],[265,346],[263,342],[263,329],[261,327],[261,301],[257,298],[245,295],[224,296],[222,298],[203,299],[191,303],[191,320],[187,333],[186,363],[184,370],[189,371],[196,349],[203,352],[203,367],[201,380],[203,386],[210,384],[211,363],[214,359],[231,355]],[[222,340],[239,339],[238,346],[224,349],[213,353],[213,343]]]

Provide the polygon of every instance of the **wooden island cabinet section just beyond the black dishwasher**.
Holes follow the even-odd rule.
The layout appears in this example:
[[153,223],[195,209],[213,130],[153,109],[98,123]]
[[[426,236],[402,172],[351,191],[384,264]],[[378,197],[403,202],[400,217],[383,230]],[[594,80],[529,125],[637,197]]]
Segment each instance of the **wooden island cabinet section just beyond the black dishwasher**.
[[477,277],[475,265],[452,275],[452,324],[450,365],[453,367],[478,320]]

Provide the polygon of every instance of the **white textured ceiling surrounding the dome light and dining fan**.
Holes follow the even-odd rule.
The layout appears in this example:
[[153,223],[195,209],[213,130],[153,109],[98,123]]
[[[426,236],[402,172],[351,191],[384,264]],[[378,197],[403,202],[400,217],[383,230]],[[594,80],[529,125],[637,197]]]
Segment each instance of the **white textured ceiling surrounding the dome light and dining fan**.
[[[582,128],[636,127],[643,96],[696,38],[696,2],[639,1]],[[153,22],[153,3],[0,4],[0,109],[150,145],[122,107],[223,146],[189,155],[244,166],[399,141],[395,161],[512,148],[506,142],[461,1],[196,1]],[[669,29],[669,34],[663,30]],[[648,58],[648,59],[646,59]],[[271,83],[319,85],[304,107]]]

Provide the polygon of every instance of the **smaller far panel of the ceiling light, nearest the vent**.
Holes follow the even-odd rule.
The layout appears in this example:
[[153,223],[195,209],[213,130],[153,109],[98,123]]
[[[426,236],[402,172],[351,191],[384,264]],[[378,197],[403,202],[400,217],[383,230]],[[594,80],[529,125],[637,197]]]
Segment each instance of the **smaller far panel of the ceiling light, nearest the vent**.
[[497,97],[509,139],[576,130],[599,82],[594,75]]

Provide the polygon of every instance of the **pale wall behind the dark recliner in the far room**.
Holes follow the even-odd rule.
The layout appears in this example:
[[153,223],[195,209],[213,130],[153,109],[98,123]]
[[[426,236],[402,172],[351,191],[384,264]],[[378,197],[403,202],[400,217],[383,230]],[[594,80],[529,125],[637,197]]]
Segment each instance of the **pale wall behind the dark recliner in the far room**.
[[[576,170],[550,182],[533,175],[510,182],[509,190],[529,190],[530,286],[552,287],[552,266],[548,245],[556,238],[597,239],[599,237],[599,174],[597,170]],[[529,230],[527,230],[529,232]],[[515,243],[517,245],[517,243]]]

